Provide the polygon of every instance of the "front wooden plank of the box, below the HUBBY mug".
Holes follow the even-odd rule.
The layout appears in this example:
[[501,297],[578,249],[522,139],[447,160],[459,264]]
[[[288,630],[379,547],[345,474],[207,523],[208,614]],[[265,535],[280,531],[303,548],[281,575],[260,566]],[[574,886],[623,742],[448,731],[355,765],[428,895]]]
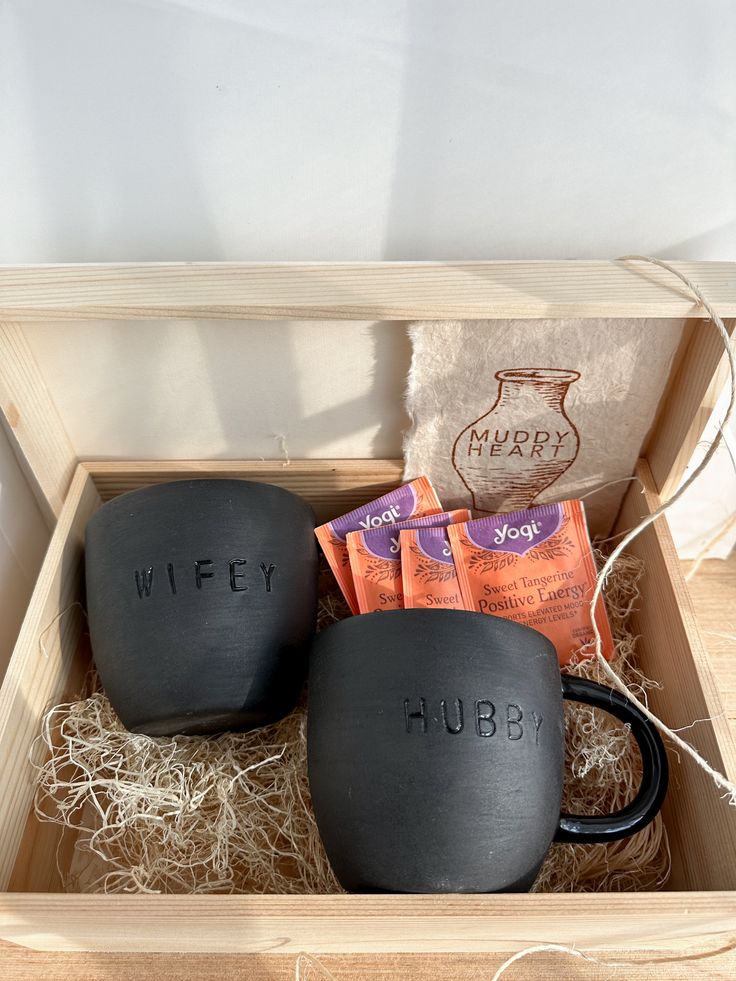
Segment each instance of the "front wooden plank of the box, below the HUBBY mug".
[[33,950],[426,954],[560,943],[687,951],[734,932],[736,893],[728,892],[0,898],[0,939]]

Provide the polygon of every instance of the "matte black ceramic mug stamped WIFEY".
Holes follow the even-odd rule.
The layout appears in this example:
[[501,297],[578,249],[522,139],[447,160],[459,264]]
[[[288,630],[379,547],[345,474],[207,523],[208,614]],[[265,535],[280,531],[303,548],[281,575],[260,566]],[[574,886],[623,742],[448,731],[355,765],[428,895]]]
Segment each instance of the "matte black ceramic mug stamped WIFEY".
[[317,609],[301,498],[225,479],[123,494],[87,525],[86,580],[94,659],[128,729],[253,729],[293,708]]

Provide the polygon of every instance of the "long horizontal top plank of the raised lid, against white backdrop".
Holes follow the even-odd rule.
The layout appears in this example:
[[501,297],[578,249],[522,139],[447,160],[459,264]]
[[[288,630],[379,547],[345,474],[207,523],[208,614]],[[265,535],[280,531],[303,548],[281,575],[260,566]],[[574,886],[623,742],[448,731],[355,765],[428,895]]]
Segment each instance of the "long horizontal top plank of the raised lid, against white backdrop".
[[[677,262],[721,316],[736,266]],[[442,320],[695,317],[666,270],[612,261],[116,263],[0,267],[0,318]]]

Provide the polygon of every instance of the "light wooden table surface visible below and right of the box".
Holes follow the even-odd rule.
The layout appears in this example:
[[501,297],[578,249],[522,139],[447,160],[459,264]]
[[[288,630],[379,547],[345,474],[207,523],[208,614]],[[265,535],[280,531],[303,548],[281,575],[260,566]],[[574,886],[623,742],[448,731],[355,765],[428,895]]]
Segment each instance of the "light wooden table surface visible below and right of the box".
[[[687,574],[689,568],[685,564]],[[704,562],[689,581],[703,639],[721,683],[724,708],[736,726],[736,556]],[[286,955],[49,954],[0,942],[3,981],[491,981],[504,954],[373,954],[302,961]],[[693,949],[688,960],[657,952],[606,951],[600,963],[536,953],[513,964],[504,981],[555,978],[679,981],[736,977],[736,938]],[[627,964],[622,964],[627,961]],[[321,966],[320,966],[321,965]]]

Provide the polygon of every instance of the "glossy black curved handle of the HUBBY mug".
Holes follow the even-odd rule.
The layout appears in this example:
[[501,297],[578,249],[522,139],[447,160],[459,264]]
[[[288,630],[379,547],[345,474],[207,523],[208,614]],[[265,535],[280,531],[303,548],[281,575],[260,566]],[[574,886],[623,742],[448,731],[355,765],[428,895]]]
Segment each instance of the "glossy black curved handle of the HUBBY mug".
[[647,717],[613,688],[587,678],[561,675],[562,697],[610,712],[631,726],[641,753],[641,786],[636,797],[614,814],[561,814],[555,841],[578,844],[618,841],[641,831],[655,817],[667,793],[669,767],[664,743]]

